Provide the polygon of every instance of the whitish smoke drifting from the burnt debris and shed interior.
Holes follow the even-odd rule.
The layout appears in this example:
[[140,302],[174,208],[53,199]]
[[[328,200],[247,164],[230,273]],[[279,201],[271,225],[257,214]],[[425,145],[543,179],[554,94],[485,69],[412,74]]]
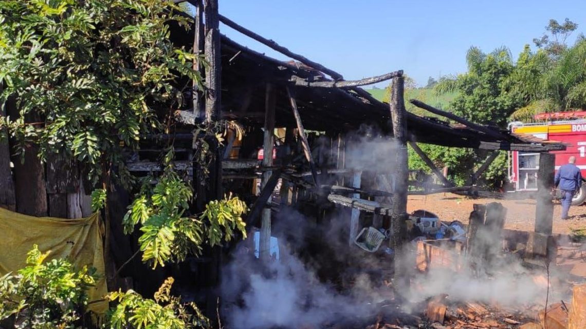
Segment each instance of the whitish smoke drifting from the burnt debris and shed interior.
[[[368,131],[353,140],[355,142],[346,145],[346,168],[363,172],[391,172],[397,150],[393,140]],[[325,142],[321,145],[328,147]],[[318,227],[309,224],[311,220],[295,211],[281,211],[273,221],[273,235],[280,241],[278,262],[263,265],[254,259],[252,252],[234,257],[224,268],[222,281],[224,314],[230,328],[319,327],[328,321],[342,321],[361,315],[366,317],[373,314],[377,303],[390,298],[387,287],[383,285],[383,280],[390,277],[369,275],[364,271],[389,269],[393,263],[389,258],[377,258],[356,246],[350,246],[349,218],[340,214],[334,214],[329,219],[329,225]],[[308,235],[311,237],[307,238]],[[499,243],[500,237],[493,238]],[[327,250],[316,249],[306,242],[316,239],[327,246]],[[388,241],[384,243],[389,244]],[[518,259],[499,258],[498,262],[491,264],[489,275],[479,275],[478,271],[471,270],[473,266],[465,260],[458,272],[431,270],[417,273],[413,252],[409,257],[411,261],[407,262],[407,273],[411,276],[412,285],[404,297],[412,303],[440,294],[448,294],[452,301],[498,301],[505,305],[542,303],[546,297],[547,283],[543,285],[535,279],[536,276],[543,277],[543,272],[526,269]],[[350,268],[359,270],[353,272]],[[352,285],[345,285],[350,287],[348,292],[340,292],[335,283],[319,280],[320,273],[336,269],[343,273],[335,274],[352,282]]]

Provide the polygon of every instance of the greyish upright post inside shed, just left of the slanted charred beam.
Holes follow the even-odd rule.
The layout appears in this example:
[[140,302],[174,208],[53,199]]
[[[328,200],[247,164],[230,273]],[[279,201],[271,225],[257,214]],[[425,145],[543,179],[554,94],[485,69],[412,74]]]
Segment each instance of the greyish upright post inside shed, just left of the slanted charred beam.
[[[265,117],[264,117],[264,142],[263,142],[263,167],[272,166],[272,149],[274,148],[275,136],[275,104],[277,102],[277,92],[273,84],[267,84],[265,95]],[[271,171],[263,173],[261,180],[261,190],[267,186],[268,180],[272,176]],[[274,187],[273,187],[274,189]],[[272,190],[271,190],[272,191]],[[260,259],[268,261],[271,259],[271,197],[268,197],[267,203],[263,208],[263,220],[260,229]]]

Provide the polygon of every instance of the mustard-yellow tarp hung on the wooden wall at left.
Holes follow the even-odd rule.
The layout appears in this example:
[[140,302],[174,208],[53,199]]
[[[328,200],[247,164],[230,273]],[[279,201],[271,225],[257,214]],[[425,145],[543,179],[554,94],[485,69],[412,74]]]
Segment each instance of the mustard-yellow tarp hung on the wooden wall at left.
[[[103,299],[107,287],[101,232],[97,213],[68,220],[33,217],[0,208],[0,275],[25,267],[26,253],[36,244],[41,252],[51,251],[49,259],[68,258],[77,268],[96,268],[100,278],[88,292],[89,300]],[[88,309],[103,314],[108,303],[91,303]]]

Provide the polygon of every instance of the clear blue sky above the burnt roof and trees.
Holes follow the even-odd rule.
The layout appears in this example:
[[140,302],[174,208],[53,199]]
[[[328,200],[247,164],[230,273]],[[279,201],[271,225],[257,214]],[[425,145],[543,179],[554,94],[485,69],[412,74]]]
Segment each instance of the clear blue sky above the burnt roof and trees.
[[[220,13],[341,73],[346,80],[398,69],[418,84],[466,70],[472,45],[507,46],[516,58],[566,17],[586,32],[586,1],[220,0]],[[277,59],[286,57],[221,25],[236,42]],[[574,32],[572,40],[578,35]]]

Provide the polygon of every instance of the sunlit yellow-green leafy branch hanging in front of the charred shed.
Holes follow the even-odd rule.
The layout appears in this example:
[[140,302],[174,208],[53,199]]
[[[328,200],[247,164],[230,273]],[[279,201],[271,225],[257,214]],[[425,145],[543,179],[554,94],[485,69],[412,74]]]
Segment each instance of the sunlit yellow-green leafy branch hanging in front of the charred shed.
[[[122,220],[127,234],[140,225],[142,260],[151,262],[154,268],[169,261],[182,261],[188,254],[199,255],[204,244],[214,246],[223,239],[230,241],[236,231],[246,237],[241,215],[247,207],[238,197],[211,201],[201,218],[188,215],[193,193],[173,169],[172,159],[173,152],[169,150],[161,176],[144,179],[141,191]],[[152,180],[156,180],[155,186]]]

